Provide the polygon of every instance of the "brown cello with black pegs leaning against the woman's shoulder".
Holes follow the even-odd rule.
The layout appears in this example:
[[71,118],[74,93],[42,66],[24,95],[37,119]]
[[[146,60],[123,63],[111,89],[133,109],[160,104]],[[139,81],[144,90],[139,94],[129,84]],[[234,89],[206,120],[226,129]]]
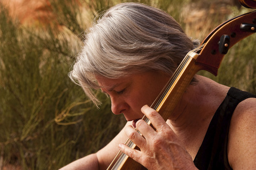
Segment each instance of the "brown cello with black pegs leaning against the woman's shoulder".
[[[246,8],[256,8],[255,0],[239,0],[239,2]],[[256,11],[223,22],[203,40],[198,48],[187,53],[151,107],[166,121],[195,74],[199,70],[206,70],[217,76],[218,68],[228,50],[234,44],[255,32]],[[151,125],[150,119],[145,116],[142,119],[148,125]],[[132,149],[139,150],[130,139],[127,139],[125,144]],[[146,168],[124,153],[119,152],[108,169]]]

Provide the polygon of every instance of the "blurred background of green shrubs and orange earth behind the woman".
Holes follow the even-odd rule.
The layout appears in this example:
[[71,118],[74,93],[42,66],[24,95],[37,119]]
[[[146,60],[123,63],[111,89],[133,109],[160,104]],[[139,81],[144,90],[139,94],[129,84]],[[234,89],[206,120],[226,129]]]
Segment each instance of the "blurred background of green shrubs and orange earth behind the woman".
[[[125,124],[110,101],[97,109],[68,72],[86,30],[102,11],[127,1],[0,1],[0,170],[58,169],[96,152]],[[251,10],[238,0],[144,0],[167,11],[195,39]],[[252,35],[234,45],[215,81],[256,94]]]

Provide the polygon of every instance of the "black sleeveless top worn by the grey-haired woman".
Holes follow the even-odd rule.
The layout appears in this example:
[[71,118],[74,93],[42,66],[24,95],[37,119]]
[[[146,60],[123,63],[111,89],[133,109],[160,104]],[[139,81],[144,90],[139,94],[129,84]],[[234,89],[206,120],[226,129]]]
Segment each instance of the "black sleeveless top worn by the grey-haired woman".
[[212,117],[194,163],[200,170],[232,169],[227,158],[227,142],[230,120],[234,109],[245,99],[256,95],[231,87],[226,98]]

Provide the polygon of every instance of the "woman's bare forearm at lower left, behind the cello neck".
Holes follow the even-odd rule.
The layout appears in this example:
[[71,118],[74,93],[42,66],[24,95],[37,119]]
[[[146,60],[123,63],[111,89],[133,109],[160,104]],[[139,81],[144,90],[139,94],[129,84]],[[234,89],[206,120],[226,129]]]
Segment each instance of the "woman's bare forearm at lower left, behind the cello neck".
[[[125,126],[131,124],[131,122],[128,122]],[[125,142],[127,138],[128,137],[125,135],[124,130],[121,130],[109,144],[107,144],[97,153],[71,162],[65,167],[62,167],[60,170],[106,169],[119,151],[118,144]]]

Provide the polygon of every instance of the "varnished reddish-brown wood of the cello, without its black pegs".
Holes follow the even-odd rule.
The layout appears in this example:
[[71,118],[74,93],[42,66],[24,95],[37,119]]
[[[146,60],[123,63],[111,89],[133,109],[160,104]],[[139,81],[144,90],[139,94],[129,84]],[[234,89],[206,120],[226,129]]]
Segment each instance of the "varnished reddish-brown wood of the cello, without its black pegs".
[[[240,2],[251,6],[249,4],[250,1],[241,0]],[[252,3],[255,3],[255,1],[253,0]],[[255,8],[254,5],[251,7]],[[174,73],[174,76],[169,81],[169,83],[172,85],[167,86],[168,90],[163,90],[161,92],[156,102],[153,103],[152,108],[158,111],[159,114],[165,120],[167,120],[168,117],[172,114],[177,103],[181,100],[182,95],[185,92],[190,81],[199,70],[207,70],[217,76],[218,68],[220,67],[221,61],[224,57],[224,55],[219,52],[218,42],[220,41],[220,37],[222,35],[230,36],[230,48],[243,38],[253,34],[251,32],[242,31],[240,29],[240,25],[244,22],[253,24],[253,19],[255,20],[255,18],[256,11],[247,13],[238,17],[234,17],[222,23],[214,31],[212,31],[202,42],[202,50],[198,51],[197,53],[189,52],[187,54],[187,56],[185,57],[186,62],[182,62],[183,65],[180,65],[178,67],[178,69]],[[166,89],[166,87],[164,89]],[[162,98],[163,93],[164,97]],[[148,123],[148,125],[151,125],[150,120],[147,119],[146,122]],[[138,149],[135,144],[131,148]],[[112,167],[113,165],[111,165],[108,169],[146,169],[141,164],[137,163],[132,158],[127,156],[122,160],[122,162],[120,162],[120,165],[117,168]]]

